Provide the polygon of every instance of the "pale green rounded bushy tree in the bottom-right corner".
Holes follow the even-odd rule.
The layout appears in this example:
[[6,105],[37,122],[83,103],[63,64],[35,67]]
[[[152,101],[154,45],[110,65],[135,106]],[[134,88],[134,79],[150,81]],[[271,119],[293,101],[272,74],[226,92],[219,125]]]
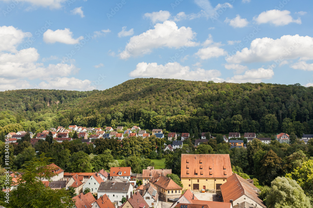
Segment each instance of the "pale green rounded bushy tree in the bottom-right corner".
[[265,198],[268,208],[295,207],[311,208],[310,200],[295,180],[277,177],[271,182],[271,188]]

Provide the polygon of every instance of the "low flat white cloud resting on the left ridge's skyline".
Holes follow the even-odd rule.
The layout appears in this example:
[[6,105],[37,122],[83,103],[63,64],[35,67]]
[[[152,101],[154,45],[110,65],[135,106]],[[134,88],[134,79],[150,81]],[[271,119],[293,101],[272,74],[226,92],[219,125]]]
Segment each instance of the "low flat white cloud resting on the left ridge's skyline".
[[74,77],[57,77],[47,82],[41,82],[38,84],[38,88],[41,89],[66,89],[66,90],[93,90],[95,86],[92,86],[90,80],[80,80]]

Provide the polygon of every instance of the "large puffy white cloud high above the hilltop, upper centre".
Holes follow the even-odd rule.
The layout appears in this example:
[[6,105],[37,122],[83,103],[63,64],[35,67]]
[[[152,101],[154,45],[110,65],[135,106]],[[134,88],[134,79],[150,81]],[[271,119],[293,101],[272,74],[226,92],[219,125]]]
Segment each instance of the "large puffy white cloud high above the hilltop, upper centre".
[[154,48],[197,46],[199,44],[192,41],[195,36],[196,33],[190,27],[178,28],[176,23],[172,21],[157,23],[154,29],[131,37],[119,56],[121,59],[127,59],[131,56],[149,54]]

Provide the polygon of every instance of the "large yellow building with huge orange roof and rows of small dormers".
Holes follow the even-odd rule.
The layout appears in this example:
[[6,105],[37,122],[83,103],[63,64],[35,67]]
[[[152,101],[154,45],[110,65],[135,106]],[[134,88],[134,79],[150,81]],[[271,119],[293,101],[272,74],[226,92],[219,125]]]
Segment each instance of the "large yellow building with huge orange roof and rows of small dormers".
[[185,189],[220,190],[232,174],[228,154],[182,154],[181,181]]

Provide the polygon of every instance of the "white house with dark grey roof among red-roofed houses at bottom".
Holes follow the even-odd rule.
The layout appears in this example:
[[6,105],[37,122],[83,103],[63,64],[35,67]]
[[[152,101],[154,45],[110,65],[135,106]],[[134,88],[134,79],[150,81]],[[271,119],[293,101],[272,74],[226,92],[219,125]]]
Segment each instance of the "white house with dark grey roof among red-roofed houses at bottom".
[[105,194],[111,202],[121,206],[123,197],[131,196],[133,186],[130,182],[113,179],[110,181],[102,182],[98,189],[98,199]]

